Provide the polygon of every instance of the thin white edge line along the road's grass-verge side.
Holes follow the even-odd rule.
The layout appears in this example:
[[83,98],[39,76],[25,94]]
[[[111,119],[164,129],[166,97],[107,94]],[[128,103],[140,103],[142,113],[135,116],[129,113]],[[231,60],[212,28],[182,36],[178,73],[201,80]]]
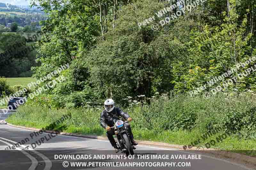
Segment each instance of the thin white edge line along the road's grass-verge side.
[[[12,126],[10,126],[12,127]],[[17,128],[17,127],[12,127],[12,128]],[[23,129],[23,128],[18,128],[18,129]],[[27,131],[31,131],[33,132],[32,130],[29,130],[29,129],[23,129],[23,130],[27,130]],[[47,133],[47,132],[43,132],[45,134],[51,134],[51,133]],[[105,141],[105,140],[100,140],[100,139],[93,139],[93,138],[88,138],[88,137],[74,137],[74,136],[67,136],[67,135],[57,135],[56,137],[60,137],[60,136],[64,136],[64,137],[73,137],[73,138],[80,138],[80,139],[91,139],[91,140],[98,140],[98,141],[102,141],[102,142],[108,142],[109,141]],[[142,145],[137,145],[137,146],[142,146]],[[183,153],[193,153],[193,152],[186,152],[186,151],[181,151],[181,150],[175,150],[175,149],[167,149],[167,148],[160,148],[160,147],[152,147],[152,146],[142,146],[142,147],[148,147],[148,148],[155,148],[155,149],[162,149],[162,150],[169,150],[169,151],[177,151],[177,152],[183,152]],[[194,153],[194,154],[197,154],[199,155],[198,153]],[[212,157],[212,156],[208,156],[208,155],[202,155],[202,157],[205,157],[205,158],[210,158],[210,159],[215,159],[215,160],[219,160],[219,161],[223,161],[223,162],[226,162],[226,163],[229,163],[229,164],[232,164],[232,165],[235,165],[235,166],[240,166],[244,169],[247,169],[247,170],[253,170],[252,168],[248,168],[244,165],[241,165],[241,164],[237,164],[237,163],[234,163],[234,162],[231,162],[231,161],[228,161],[228,160],[224,160],[224,159],[220,159],[220,158],[215,158],[215,157]]]

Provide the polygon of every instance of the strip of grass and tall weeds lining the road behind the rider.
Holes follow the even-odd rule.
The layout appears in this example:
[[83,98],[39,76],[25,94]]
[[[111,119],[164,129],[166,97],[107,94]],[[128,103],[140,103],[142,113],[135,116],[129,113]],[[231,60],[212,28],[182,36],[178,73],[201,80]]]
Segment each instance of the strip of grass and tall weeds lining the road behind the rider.
[[[142,101],[141,101],[142,102]],[[256,104],[255,96],[250,93],[219,94],[209,99],[189,97],[187,95],[162,95],[152,99],[151,104],[141,102],[123,108],[133,121],[132,130],[137,140],[149,140],[170,144],[188,145],[200,138],[204,146],[223,133],[231,134],[211,148],[256,156]],[[63,122],[66,132],[105,136],[105,129],[100,127],[99,119],[102,107],[47,109],[41,107],[20,106],[17,113],[7,122],[12,124],[43,128],[64,114],[71,113],[72,118]],[[202,135],[216,131],[203,140]]]

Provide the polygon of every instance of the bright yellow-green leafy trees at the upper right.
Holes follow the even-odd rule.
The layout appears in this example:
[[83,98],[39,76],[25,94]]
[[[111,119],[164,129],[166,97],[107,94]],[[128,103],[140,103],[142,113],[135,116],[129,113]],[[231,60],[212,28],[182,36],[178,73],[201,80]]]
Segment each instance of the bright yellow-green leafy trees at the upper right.
[[[255,91],[255,73],[252,72],[244,79],[238,79],[238,74],[243,73],[254,63],[242,69],[236,67],[236,64],[244,63],[256,54],[249,43],[252,42],[252,34],[244,34],[248,29],[248,20],[245,15],[239,15],[241,5],[239,1],[230,1],[228,13],[224,11],[218,16],[219,19],[221,18],[218,24],[206,23],[201,30],[197,28],[191,30],[188,42],[189,55],[186,55],[185,59],[189,64],[179,60],[173,68],[175,73],[173,83],[176,92],[189,92],[204,85],[206,85],[204,91],[210,91],[213,87],[222,85],[231,78],[236,79],[233,82],[234,85],[223,89],[224,91]],[[187,69],[184,69],[185,67]],[[214,77],[231,69],[235,69],[232,76],[214,85],[207,84],[207,81],[212,81]]]

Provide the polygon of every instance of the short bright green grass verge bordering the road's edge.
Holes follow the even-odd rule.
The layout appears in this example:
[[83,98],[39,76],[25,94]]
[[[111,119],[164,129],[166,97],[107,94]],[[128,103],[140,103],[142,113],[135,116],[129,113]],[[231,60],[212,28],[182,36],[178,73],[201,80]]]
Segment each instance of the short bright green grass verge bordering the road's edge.
[[[211,140],[216,141],[216,138],[223,134],[223,132],[216,133],[203,140],[202,135],[205,131],[201,131],[199,129],[173,131],[138,128],[134,125],[140,121],[140,118],[136,116],[136,109],[133,111],[134,113],[131,112],[130,114],[132,117],[134,116],[134,121],[131,122],[131,126],[134,137],[137,140],[188,145],[191,144],[191,142],[193,143],[200,139],[200,144],[196,144],[195,147],[204,146],[205,148],[206,143],[210,143]],[[69,113],[72,115],[71,119],[65,120],[62,123],[62,125],[67,127],[65,132],[105,136],[105,129],[100,127],[99,123],[100,112],[93,109],[50,110],[44,107],[20,106],[16,113],[9,116],[7,122],[14,125],[41,129],[56,121],[62,117],[62,115]],[[235,134],[227,136],[225,139],[223,138],[223,140],[216,142],[214,146],[211,145],[211,148],[242,153],[254,157],[256,156],[256,141],[252,139],[241,139]]]

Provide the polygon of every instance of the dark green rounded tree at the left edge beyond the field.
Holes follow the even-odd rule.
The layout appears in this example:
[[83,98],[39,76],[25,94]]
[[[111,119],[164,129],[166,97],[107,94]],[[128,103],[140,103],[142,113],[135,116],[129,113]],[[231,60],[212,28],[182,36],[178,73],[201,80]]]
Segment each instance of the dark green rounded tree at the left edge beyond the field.
[[5,77],[31,76],[31,66],[36,66],[33,44],[26,44],[25,38],[16,33],[0,33],[0,75]]

